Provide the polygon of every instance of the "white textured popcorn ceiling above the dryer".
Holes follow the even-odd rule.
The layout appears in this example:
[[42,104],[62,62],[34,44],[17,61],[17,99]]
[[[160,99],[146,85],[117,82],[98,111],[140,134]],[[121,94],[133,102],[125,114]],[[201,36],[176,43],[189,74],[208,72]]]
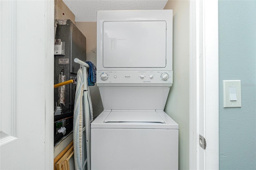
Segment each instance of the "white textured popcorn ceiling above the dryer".
[[96,22],[99,10],[162,10],[168,0],[63,0],[76,22]]

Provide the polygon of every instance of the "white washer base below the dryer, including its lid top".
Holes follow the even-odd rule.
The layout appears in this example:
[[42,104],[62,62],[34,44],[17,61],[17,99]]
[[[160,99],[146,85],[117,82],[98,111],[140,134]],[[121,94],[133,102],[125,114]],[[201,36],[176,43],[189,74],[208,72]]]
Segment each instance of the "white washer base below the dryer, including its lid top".
[[91,139],[92,170],[178,169],[178,124],[164,111],[104,110]]

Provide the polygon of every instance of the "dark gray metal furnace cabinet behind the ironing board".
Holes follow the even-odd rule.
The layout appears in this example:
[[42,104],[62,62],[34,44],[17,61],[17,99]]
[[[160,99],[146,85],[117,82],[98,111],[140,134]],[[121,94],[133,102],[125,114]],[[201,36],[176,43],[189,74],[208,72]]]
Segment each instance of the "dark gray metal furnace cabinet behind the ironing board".
[[[54,55],[54,84],[59,83],[58,77],[64,69],[66,81],[76,77],[79,64],[74,63],[74,58],[86,61],[86,38],[80,30],[67,20],[66,25],[58,25],[56,29],[56,39],[65,42],[65,55]],[[68,63],[60,63],[59,59],[68,59]],[[75,84],[66,85],[65,106],[62,105],[63,113],[74,110]],[[58,103],[58,88],[54,89],[54,106]]]

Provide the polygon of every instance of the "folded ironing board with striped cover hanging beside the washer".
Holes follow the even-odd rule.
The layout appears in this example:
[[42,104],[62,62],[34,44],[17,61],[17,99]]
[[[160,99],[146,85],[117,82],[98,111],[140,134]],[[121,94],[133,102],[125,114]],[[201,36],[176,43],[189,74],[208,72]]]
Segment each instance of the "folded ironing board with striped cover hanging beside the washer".
[[[87,87],[87,63],[75,58],[82,69],[78,70],[77,87],[74,106],[74,161],[76,170],[90,170],[90,119],[93,119],[90,93]],[[86,152],[85,152],[86,150]],[[85,167],[87,167],[85,169]]]

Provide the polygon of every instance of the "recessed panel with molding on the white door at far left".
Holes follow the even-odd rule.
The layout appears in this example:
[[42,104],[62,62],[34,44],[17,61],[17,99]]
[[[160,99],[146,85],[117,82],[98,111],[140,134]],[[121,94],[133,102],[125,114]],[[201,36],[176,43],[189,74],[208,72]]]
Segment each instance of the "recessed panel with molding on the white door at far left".
[[[0,1],[0,146],[17,139],[16,1]],[[4,41],[8,40],[8,41]],[[5,113],[8,114],[5,114]]]

